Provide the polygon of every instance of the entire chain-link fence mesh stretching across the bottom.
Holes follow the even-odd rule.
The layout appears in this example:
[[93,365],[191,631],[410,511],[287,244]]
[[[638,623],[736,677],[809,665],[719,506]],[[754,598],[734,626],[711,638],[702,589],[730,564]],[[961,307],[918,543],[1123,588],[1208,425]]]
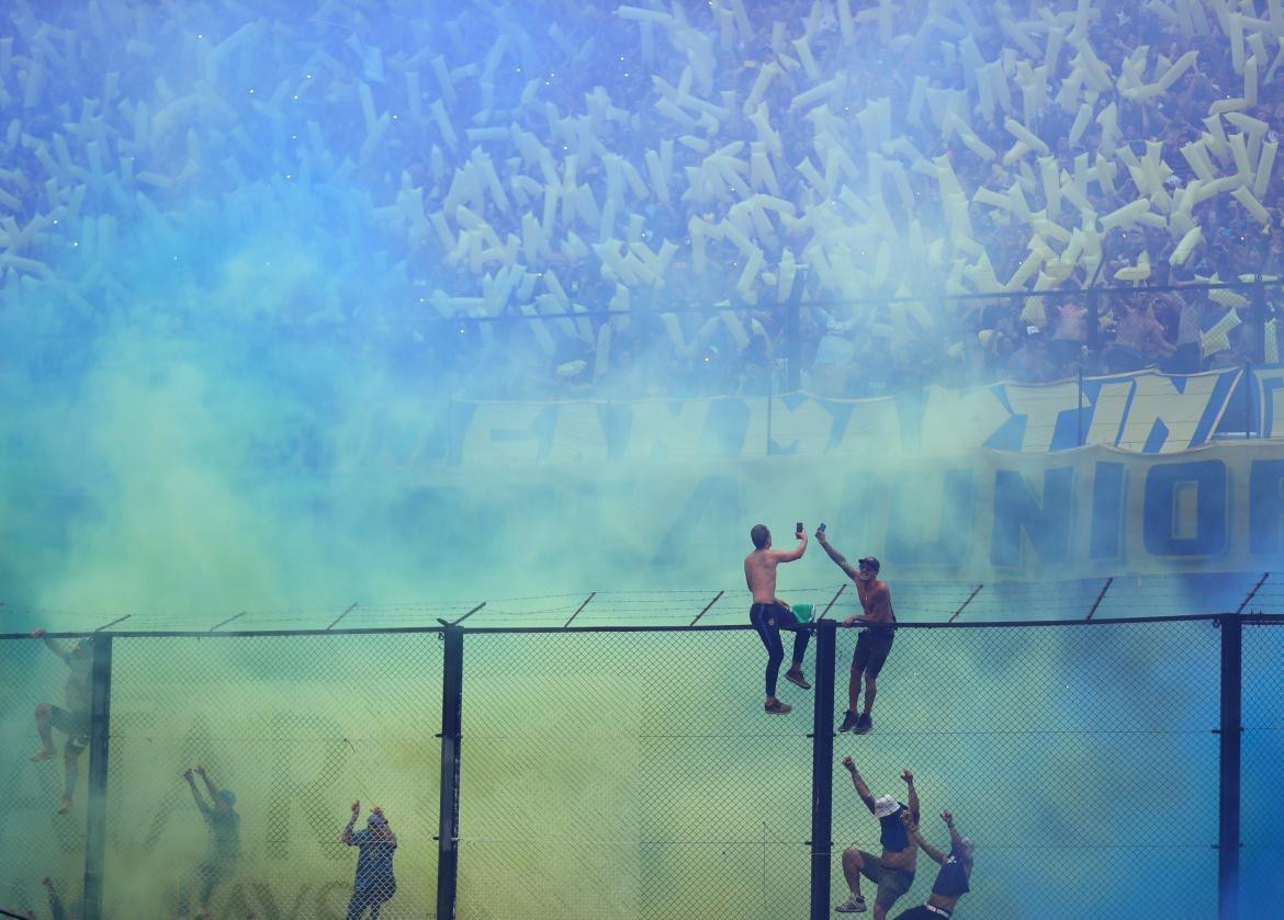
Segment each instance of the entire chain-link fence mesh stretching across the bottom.
[[[829,616],[849,612],[840,602]],[[360,826],[381,806],[398,840],[384,917],[438,905],[465,920],[826,916],[849,896],[842,851],[881,852],[840,762],[850,756],[874,796],[907,801],[913,771],[935,846],[949,848],[946,808],[976,840],[960,916],[1219,916],[1228,622],[1243,635],[1239,893],[1256,916],[1281,894],[1284,629],[1270,617],[907,624],[877,680],[873,730],[836,737],[814,733],[828,701],[783,676],[794,711],[763,712],[765,652],[729,622],[448,626],[457,661],[439,630],[117,635],[101,899],[83,906],[91,752],[67,815],[55,814],[64,733],[53,731],[59,757],[27,760],[35,707],[62,704],[68,666],[6,636],[0,907],[53,916],[49,876],[74,917],[190,916],[203,903],[216,917],[344,917],[356,799]],[[855,642],[838,629],[828,660],[820,642],[804,657],[819,686],[832,669],[835,721]],[[452,669],[462,719],[439,740]],[[833,745],[828,781],[813,778],[820,742]],[[446,748],[460,758],[444,797],[457,864],[439,890]],[[832,842],[815,835],[813,806]],[[813,894],[817,865],[827,898]],[[922,903],[936,870],[921,852],[889,916]]]

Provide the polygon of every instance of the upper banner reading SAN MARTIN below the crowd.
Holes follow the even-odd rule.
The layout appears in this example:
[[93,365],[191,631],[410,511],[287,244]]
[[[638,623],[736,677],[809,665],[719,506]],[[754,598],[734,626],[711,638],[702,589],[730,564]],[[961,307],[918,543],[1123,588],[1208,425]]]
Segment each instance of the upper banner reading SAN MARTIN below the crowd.
[[636,402],[456,402],[460,466],[619,463],[763,456],[966,456],[982,448],[1048,453],[1100,444],[1166,454],[1212,443],[1228,414],[1284,435],[1284,368],[1189,376],[1154,372],[1040,386],[928,388],[863,400],[806,394]]

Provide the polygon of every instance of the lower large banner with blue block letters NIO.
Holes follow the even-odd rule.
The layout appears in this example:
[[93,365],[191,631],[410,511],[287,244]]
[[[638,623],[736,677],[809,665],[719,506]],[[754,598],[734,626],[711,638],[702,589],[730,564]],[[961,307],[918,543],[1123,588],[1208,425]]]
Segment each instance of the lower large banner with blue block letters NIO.
[[484,476],[437,467],[420,481],[460,535],[455,543],[502,539],[533,574],[612,565],[664,581],[734,584],[759,521],[779,547],[794,545],[795,521],[824,521],[844,552],[873,553],[903,579],[1261,572],[1284,561],[1284,450],[1270,441],[1179,456],[1089,447],[932,461],[524,466]]

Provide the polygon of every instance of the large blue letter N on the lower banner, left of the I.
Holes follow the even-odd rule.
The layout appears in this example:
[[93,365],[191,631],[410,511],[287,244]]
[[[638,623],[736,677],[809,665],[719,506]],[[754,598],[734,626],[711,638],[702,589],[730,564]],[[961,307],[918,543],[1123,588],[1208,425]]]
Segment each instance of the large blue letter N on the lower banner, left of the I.
[[1022,565],[1022,532],[1045,565],[1066,562],[1070,554],[1075,471],[1057,467],[1044,472],[1043,504],[1034,488],[1016,470],[994,471],[994,529],[990,562],[1000,568]]

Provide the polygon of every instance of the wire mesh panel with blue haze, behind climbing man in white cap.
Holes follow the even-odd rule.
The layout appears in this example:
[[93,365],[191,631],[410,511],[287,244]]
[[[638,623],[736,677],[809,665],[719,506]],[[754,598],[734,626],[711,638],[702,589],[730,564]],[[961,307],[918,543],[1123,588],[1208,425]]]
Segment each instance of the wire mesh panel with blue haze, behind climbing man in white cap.
[[[849,706],[855,630],[838,635],[835,710]],[[864,686],[860,688],[862,708]],[[877,679],[873,730],[844,734],[873,796],[937,815],[976,840],[977,917],[1213,916],[1217,633],[1208,622],[901,629]],[[835,902],[845,844],[880,853],[880,825],[835,765]],[[918,857],[922,903],[936,865]],[[872,903],[873,888],[864,883]]]

